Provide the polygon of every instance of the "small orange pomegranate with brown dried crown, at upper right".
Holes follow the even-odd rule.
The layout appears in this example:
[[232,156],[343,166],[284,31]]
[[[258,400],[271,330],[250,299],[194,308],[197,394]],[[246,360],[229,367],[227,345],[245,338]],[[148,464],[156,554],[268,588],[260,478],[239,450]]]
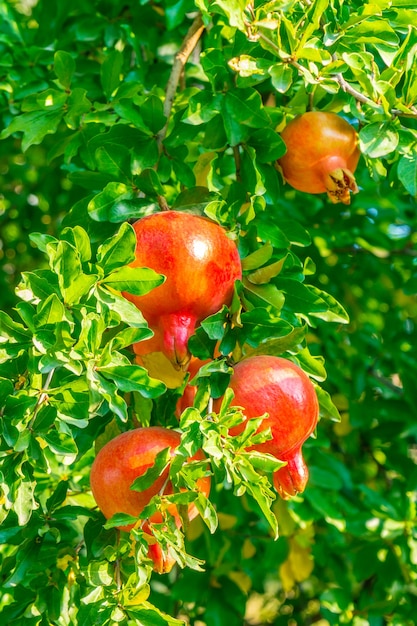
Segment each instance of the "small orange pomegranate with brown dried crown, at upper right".
[[335,113],[309,111],[291,120],[281,137],[287,152],[278,163],[292,187],[350,203],[350,191],[359,191],[353,172],[360,151],[353,126]]

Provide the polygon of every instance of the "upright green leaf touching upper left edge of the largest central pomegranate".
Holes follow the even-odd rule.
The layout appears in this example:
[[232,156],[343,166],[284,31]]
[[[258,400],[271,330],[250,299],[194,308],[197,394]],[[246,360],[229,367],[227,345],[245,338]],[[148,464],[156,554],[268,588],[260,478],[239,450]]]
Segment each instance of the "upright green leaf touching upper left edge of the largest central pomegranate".
[[97,264],[105,274],[127,265],[135,258],[136,235],[125,222],[115,235],[103,241],[97,250]]

